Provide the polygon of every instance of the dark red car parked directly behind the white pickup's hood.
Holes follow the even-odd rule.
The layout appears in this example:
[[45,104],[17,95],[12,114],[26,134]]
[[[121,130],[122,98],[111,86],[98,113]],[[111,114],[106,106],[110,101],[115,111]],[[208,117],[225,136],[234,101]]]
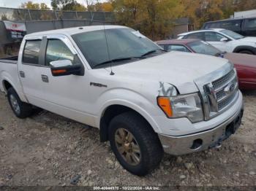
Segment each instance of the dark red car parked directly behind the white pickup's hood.
[[241,90],[256,90],[256,55],[221,52],[216,47],[198,39],[172,39],[157,42],[165,50],[195,52],[227,58],[238,72]]

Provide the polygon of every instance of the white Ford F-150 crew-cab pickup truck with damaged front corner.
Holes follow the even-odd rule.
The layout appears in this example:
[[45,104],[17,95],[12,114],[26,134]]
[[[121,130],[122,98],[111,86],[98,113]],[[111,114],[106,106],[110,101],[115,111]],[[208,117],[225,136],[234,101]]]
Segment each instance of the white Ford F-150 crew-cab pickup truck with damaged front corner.
[[218,147],[244,111],[232,63],[165,52],[124,26],[25,36],[18,58],[0,60],[0,89],[17,117],[37,106],[99,128],[121,165],[140,176],[164,151]]

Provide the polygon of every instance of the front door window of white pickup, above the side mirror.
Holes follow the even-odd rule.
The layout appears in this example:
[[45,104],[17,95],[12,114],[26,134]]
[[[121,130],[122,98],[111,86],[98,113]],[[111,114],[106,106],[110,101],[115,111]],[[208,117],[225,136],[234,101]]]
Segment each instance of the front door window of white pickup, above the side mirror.
[[45,62],[46,66],[50,66],[50,62],[52,61],[61,61],[61,60],[69,60],[72,62],[74,61],[74,55],[69,50],[66,44],[59,39],[49,39]]

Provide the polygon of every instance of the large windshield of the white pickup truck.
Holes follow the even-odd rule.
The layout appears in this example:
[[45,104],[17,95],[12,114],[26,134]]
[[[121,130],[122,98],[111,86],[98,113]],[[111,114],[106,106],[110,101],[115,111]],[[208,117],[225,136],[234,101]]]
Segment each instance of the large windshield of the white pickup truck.
[[132,28],[112,28],[72,35],[91,68],[127,63],[163,52],[162,48]]

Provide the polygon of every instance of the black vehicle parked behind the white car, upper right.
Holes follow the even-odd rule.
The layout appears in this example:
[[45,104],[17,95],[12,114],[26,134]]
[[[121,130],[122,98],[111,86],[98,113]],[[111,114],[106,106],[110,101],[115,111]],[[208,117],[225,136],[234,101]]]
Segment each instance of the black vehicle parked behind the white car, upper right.
[[256,17],[209,21],[202,29],[225,28],[243,36],[256,36]]

